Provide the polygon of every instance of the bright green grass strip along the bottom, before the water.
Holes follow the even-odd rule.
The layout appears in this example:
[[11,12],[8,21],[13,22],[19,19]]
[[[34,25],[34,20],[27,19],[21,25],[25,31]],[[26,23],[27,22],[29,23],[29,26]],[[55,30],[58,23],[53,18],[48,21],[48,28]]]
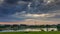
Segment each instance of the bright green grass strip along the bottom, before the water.
[[0,32],[0,34],[60,34],[60,32]]

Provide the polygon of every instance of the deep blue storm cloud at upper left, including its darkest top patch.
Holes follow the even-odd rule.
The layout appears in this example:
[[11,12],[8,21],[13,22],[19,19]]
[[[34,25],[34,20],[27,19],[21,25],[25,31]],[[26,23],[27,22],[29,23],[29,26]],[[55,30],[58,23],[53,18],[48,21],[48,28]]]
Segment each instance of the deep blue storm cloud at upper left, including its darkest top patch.
[[0,5],[0,17],[12,15],[16,12],[24,11],[27,4],[16,4],[18,0],[4,0]]

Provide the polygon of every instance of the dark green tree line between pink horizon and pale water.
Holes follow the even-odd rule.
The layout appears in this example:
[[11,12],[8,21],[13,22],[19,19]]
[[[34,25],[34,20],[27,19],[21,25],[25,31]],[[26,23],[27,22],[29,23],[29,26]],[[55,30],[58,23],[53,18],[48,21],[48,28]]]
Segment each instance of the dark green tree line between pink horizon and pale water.
[[27,28],[57,28],[60,31],[60,24],[57,25],[25,25],[25,24],[14,24],[14,25],[0,25],[0,30],[23,30]]

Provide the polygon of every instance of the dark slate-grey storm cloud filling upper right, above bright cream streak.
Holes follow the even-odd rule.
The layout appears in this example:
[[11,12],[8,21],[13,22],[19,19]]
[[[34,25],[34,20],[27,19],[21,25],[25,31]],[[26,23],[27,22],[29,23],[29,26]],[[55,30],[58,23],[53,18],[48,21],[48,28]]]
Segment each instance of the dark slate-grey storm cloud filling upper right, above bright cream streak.
[[[52,2],[50,4],[46,4],[40,1],[34,2],[31,4],[31,9],[33,10],[30,13],[48,13],[49,11],[60,10],[60,1]],[[35,8],[34,8],[35,7]]]

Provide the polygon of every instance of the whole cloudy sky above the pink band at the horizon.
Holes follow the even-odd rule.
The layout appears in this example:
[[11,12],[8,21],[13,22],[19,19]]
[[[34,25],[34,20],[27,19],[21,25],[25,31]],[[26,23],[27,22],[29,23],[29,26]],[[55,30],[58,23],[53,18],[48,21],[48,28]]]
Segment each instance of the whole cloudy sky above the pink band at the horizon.
[[60,22],[60,1],[0,0],[0,22]]

